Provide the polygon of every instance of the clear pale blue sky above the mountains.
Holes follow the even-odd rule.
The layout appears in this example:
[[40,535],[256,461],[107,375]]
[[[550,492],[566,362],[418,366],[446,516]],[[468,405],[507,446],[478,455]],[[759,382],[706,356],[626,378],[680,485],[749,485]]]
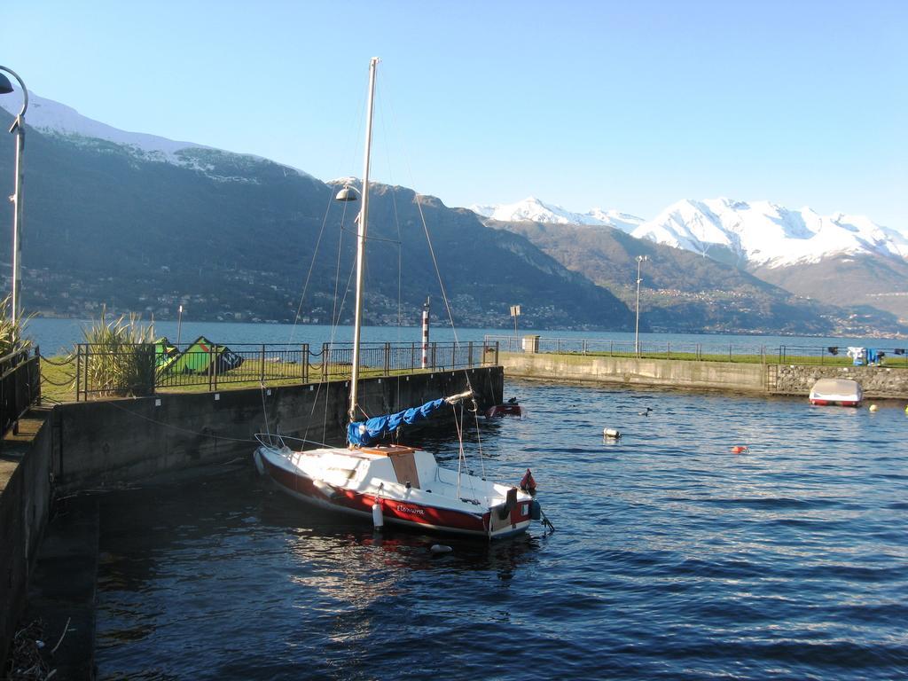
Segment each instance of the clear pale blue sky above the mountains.
[[0,64],[124,130],[448,205],[728,196],[908,232],[908,2],[7,3]]

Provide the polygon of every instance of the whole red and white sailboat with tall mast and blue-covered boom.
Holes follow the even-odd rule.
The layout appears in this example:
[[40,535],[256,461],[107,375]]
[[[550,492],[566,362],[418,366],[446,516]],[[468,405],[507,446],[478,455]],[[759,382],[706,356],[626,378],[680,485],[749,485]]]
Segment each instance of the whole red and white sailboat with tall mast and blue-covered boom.
[[[473,399],[472,391],[441,397],[393,414],[356,420],[360,373],[363,254],[369,220],[369,169],[372,107],[378,58],[370,61],[369,105],[366,116],[365,170],[356,249],[356,309],[350,376],[347,447],[304,449],[305,442],[281,435],[258,434],[253,459],[256,469],[281,491],[311,505],[371,518],[375,528],[385,522],[476,538],[505,538],[527,530],[542,517],[533,498],[535,482],[527,470],[518,486],[501,485],[461,470],[438,465],[428,451],[380,439],[401,426],[427,418],[448,405]],[[349,185],[336,197],[355,200]]]

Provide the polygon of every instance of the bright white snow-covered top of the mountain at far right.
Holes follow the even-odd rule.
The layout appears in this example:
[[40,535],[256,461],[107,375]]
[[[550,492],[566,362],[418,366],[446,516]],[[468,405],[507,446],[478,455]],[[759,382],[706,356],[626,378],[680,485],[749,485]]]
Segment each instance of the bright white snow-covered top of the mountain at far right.
[[[820,215],[766,201],[679,201],[631,234],[737,264],[784,267],[834,255],[868,253],[908,259],[908,239],[862,215]],[[725,254],[723,256],[722,254]]]

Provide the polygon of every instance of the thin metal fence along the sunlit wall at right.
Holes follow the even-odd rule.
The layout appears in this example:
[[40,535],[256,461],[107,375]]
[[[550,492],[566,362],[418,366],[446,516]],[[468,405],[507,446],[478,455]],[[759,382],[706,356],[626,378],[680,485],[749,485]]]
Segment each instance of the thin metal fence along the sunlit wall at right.
[[[681,343],[671,341],[612,341],[609,339],[544,338],[525,336],[486,336],[487,343],[498,343],[504,352],[548,352],[553,354],[639,357],[664,360],[737,361],[779,364],[821,364],[830,366],[872,365],[908,368],[906,348],[855,349],[836,346],[767,347],[755,343]],[[850,353],[850,350],[851,353]]]

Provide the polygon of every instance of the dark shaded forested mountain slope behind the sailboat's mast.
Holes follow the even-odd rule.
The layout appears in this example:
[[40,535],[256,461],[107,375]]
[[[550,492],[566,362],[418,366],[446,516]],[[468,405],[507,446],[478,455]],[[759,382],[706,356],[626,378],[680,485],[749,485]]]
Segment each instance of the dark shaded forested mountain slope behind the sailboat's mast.
[[[0,177],[13,175],[10,137],[0,138]],[[192,163],[168,163],[35,129],[28,153],[26,311],[85,317],[104,305],[164,319],[183,304],[198,320],[293,321],[311,265],[301,321],[351,321],[355,212],[342,213],[329,184],[243,154],[192,147],[178,152]],[[507,326],[520,303],[537,328],[633,328],[624,303],[525,238],[407,188],[371,189],[366,323],[415,325],[426,296],[440,299],[424,215],[458,325]],[[10,211],[0,206],[0,221]],[[8,262],[5,241],[0,254]],[[399,263],[400,279],[389,274]]]

